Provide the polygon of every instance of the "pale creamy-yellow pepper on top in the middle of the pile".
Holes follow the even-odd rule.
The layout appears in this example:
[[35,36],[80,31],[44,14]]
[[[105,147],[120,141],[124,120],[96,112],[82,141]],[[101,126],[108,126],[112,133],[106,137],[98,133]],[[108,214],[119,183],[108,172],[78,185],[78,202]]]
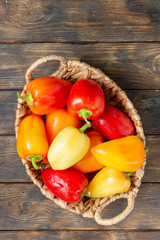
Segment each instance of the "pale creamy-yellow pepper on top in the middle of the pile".
[[69,168],[84,157],[90,146],[89,137],[84,134],[88,127],[90,123],[80,129],[69,126],[55,137],[48,151],[48,161],[54,170]]

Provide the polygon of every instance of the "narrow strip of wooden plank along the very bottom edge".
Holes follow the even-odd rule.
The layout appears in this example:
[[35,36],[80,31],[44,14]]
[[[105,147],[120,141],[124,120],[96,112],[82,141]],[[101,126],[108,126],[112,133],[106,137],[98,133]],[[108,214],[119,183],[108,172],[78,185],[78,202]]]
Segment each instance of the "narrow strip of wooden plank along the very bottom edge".
[[9,232],[0,232],[1,240],[68,240],[68,239],[87,239],[87,240],[106,240],[106,239],[115,239],[115,240],[159,240],[160,231],[9,231]]

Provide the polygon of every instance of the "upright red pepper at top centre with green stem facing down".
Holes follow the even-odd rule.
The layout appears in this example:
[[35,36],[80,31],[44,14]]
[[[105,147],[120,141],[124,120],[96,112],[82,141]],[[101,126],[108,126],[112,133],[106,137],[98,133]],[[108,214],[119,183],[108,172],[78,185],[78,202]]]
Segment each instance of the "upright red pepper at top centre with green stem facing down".
[[[68,112],[80,119],[98,118],[104,111],[105,97],[100,85],[91,79],[77,80],[69,93],[67,100]],[[79,111],[86,109],[86,114]]]

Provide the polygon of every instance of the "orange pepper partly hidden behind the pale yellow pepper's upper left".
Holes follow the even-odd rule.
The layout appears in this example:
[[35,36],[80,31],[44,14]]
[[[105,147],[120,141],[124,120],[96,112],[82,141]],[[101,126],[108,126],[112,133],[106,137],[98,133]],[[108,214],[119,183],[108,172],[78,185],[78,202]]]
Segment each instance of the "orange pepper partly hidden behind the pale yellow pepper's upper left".
[[45,127],[49,145],[62,129],[69,126],[80,128],[81,121],[69,114],[66,109],[54,109],[47,114]]

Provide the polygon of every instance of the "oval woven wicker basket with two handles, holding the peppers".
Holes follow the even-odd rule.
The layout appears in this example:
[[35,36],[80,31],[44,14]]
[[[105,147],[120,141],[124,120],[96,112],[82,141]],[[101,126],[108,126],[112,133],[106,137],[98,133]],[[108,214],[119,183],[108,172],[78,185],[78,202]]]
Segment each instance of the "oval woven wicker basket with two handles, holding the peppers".
[[[26,72],[26,84],[24,85],[22,95],[25,96],[26,94],[26,87],[33,80],[32,72],[43,63],[46,63],[51,60],[58,60],[60,61],[59,69],[54,72],[51,76],[59,77],[66,79],[71,82],[75,82],[77,79],[80,78],[90,78],[100,84],[102,87],[105,97],[106,103],[112,104],[117,106],[123,112],[125,112],[130,119],[132,120],[136,135],[143,141],[145,145],[145,136],[143,133],[142,123],[140,120],[139,115],[137,114],[136,109],[134,108],[131,101],[126,96],[125,92],[121,90],[119,86],[116,85],[109,77],[107,77],[101,70],[95,69],[94,67],[89,66],[88,64],[80,61],[75,60],[67,60],[62,56],[50,55],[46,57],[42,57],[35,61],[27,70]],[[21,120],[29,115],[31,112],[26,105],[26,102],[22,99],[18,99],[17,111],[16,111],[16,121],[15,121],[15,132],[17,136],[17,131]],[[141,185],[141,179],[144,175],[144,167],[146,164],[146,158],[144,161],[143,166],[136,171],[131,177],[131,188],[121,194],[112,195],[105,198],[87,198],[82,199],[79,203],[67,203],[62,201],[61,199],[54,196],[46,186],[43,184],[41,179],[41,171],[46,168],[46,164],[43,162],[39,163],[40,169],[36,171],[29,161],[22,159],[22,163],[24,164],[27,174],[30,179],[33,181],[35,185],[37,185],[42,194],[44,194],[47,198],[54,201],[57,205],[64,209],[68,209],[77,214],[81,214],[83,217],[94,218],[98,224],[101,225],[113,225],[120,221],[122,221],[133,209],[134,201],[136,195],[138,193],[139,187]],[[127,207],[125,210],[111,219],[102,219],[101,212],[110,203],[114,202],[117,199],[126,198],[127,199]]]

